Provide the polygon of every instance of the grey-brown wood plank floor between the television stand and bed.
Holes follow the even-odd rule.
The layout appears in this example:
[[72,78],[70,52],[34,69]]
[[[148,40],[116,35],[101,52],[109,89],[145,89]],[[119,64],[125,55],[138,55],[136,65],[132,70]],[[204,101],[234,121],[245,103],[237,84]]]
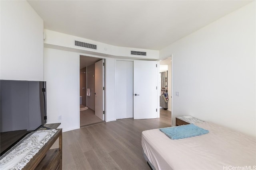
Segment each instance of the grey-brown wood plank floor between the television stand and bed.
[[64,132],[64,170],[150,170],[142,155],[141,133],[171,126],[171,112],[157,119],[118,119]]

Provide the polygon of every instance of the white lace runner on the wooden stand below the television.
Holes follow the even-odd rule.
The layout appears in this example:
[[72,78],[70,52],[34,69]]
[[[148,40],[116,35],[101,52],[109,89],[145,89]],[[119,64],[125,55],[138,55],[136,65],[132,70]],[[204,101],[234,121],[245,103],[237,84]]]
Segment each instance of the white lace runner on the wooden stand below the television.
[[35,131],[1,157],[0,170],[21,170],[56,132],[56,129]]

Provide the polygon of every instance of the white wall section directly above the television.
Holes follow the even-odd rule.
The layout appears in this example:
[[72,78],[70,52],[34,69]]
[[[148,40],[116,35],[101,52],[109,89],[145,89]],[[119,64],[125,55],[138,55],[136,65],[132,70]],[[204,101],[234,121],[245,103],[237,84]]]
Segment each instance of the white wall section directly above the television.
[[27,1],[0,3],[0,78],[43,80],[43,20]]

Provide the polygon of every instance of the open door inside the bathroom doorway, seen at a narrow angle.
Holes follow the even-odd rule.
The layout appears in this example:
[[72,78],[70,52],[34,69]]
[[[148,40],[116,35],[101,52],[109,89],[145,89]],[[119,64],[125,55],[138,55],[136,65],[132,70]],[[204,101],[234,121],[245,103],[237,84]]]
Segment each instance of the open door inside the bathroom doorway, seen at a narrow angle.
[[104,66],[103,60],[95,63],[95,115],[104,120]]

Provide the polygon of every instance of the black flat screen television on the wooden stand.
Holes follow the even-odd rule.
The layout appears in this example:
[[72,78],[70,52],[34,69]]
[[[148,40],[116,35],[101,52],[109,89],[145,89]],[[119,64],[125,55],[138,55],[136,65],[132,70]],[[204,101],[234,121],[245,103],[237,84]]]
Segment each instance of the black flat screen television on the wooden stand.
[[46,82],[0,80],[0,155],[47,123]]

